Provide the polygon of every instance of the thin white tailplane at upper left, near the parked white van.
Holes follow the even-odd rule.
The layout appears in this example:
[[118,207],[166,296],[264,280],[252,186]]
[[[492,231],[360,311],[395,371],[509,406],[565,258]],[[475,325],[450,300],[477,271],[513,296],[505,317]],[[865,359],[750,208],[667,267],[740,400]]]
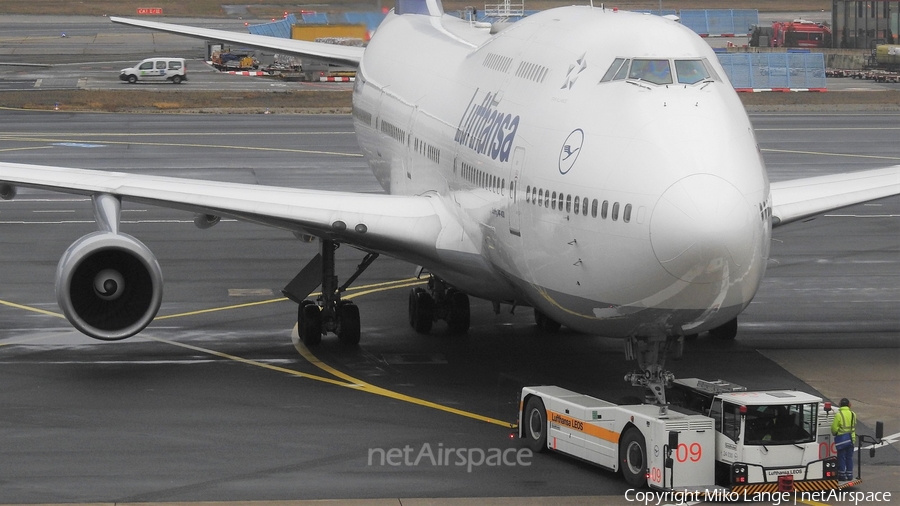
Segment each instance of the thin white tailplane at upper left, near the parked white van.
[[265,35],[253,35],[249,33],[229,32],[227,30],[212,30],[209,28],[195,28],[192,26],[160,23],[157,21],[144,21],[140,19],[128,19],[110,17],[113,23],[137,26],[158,30],[161,32],[184,35],[196,39],[204,39],[216,42],[230,42],[241,46],[256,49],[277,51],[281,54],[289,54],[300,57],[315,58],[316,60],[337,63],[340,65],[358,66],[362,60],[365,48],[353,46],[339,46],[336,44],[323,44],[320,42],[307,42],[304,40],[283,39],[281,37],[268,37]]

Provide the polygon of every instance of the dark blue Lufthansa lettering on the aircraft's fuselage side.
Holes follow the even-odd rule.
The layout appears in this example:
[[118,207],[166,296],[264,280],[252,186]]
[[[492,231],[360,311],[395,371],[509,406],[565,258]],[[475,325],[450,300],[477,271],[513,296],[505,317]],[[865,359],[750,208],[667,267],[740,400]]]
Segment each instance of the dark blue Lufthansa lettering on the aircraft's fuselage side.
[[516,131],[519,129],[519,116],[495,109],[499,102],[494,103],[494,95],[491,93],[484,96],[481,105],[475,104],[477,95],[476,90],[459,120],[453,140],[480,155],[505,162],[509,160]]

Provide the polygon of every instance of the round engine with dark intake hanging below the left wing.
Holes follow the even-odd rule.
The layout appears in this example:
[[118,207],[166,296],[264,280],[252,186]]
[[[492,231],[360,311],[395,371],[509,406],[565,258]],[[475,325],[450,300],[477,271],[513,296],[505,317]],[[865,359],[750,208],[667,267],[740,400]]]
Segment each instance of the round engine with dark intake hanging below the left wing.
[[56,268],[56,300],[72,325],[115,341],[143,330],[162,303],[162,271],[142,242],[94,232],[69,246]]

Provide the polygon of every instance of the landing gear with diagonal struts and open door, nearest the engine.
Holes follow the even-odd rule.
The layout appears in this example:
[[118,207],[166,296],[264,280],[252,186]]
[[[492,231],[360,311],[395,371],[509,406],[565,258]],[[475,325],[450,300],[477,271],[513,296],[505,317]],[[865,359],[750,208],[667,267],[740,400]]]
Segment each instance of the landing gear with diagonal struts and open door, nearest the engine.
[[[338,278],[334,274],[334,252],[340,244],[325,239],[319,242],[320,253],[288,283],[282,293],[299,304],[297,333],[303,344],[317,345],[322,341],[323,335],[333,332],[341,343],[356,346],[360,338],[359,308],[349,300],[342,300],[341,292],[347,290],[378,258],[378,254],[367,254],[356,267],[356,272],[343,285],[338,286]],[[308,299],[319,284],[322,285],[322,295],[316,301]]]

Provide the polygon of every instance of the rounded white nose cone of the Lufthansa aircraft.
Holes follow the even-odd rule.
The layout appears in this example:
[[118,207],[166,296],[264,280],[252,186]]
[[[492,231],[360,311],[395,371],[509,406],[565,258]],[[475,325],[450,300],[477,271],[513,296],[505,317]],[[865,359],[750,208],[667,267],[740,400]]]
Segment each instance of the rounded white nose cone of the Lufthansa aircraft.
[[653,209],[653,252],[666,271],[684,281],[733,279],[752,260],[755,217],[747,199],[728,181],[712,174],[685,177]]

